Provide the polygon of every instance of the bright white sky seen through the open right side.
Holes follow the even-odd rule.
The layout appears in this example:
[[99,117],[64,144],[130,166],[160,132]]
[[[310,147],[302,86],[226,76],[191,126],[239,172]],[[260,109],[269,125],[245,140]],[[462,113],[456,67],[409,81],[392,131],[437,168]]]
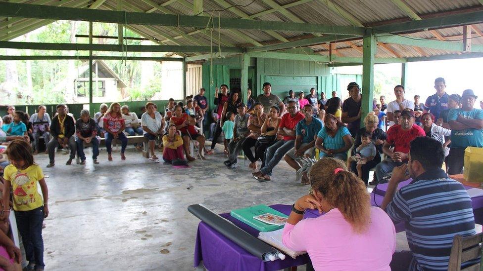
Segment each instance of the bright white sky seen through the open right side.
[[[435,78],[443,77],[448,94],[461,95],[463,90],[473,89],[478,96],[475,107],[479,106],[483,98],[482,66],[483,58],[409,62],[405,98],[412,99],[418,94],[424,103],[428,96],[435,94]],[[378,64],[374,69],[384,72],[388,77],[401,77],[400,63]],[[362,66],[343,67],[338,72],[362,74]],[[390,99],[394,99],[394,96]]]

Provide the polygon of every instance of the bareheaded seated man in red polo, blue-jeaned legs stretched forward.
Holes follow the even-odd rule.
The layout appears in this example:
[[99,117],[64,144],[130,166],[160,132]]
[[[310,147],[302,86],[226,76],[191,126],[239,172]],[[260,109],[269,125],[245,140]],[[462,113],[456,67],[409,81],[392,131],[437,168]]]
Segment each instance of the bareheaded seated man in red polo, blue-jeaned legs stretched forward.
[[265,166],[260,171],[252,173],[253,178],[260,182],[271,180],[272,169],[295,145],[295,128],[297,123],[304,118],[304,115],[298,112],[294,101],[287,103],[287,110],[289,113],[282,116],[278,131],[278,134],[282,135],[284,139],[277,141],[267,149],[265,153]]

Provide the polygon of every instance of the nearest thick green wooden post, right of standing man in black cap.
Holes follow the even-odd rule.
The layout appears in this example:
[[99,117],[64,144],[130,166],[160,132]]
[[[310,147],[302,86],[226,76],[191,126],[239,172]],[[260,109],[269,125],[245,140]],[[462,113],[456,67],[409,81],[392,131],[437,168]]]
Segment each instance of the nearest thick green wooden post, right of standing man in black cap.
[[[372,97],[374,91],[374,58],[376,55],[376,39],[371,30],[363,38],[362,51],[362,114],[361,118],[372,111]],[[361,121],[361,127],[364,121]]]

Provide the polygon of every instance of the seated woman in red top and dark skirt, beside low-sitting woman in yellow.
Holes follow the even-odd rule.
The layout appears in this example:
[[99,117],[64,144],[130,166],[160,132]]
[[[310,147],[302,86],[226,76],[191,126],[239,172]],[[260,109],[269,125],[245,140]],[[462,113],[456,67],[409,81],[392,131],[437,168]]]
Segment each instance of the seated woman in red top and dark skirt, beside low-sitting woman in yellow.
[[203,150],[205,138],[203,135],[198,134],[194,129],[194,118],[183,113],[183,108],[177,105],[174,108],[174,115],[169,119],[169,124],[176,125],[176,129],[181,132],[181,136],[183,137],[183,148],[185,149],[188,161],[195,160],[195,158],[190,155],[190,140],[192,139],[199,142],[199,156],[204,160]]

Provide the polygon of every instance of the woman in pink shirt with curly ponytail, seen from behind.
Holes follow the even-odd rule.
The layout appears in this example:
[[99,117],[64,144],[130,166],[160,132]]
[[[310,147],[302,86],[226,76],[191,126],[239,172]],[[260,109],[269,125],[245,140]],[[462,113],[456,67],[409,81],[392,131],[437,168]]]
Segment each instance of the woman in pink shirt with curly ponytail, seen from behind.
[[[317,161],[309,179],[311,193],[293,205],[283,243],[307,251],[315,270],[390,271],[394,225],[381,208],[371,207],[364,182],[334,158]],[[316,208],[325,214],[303,219],[305,209]]]

